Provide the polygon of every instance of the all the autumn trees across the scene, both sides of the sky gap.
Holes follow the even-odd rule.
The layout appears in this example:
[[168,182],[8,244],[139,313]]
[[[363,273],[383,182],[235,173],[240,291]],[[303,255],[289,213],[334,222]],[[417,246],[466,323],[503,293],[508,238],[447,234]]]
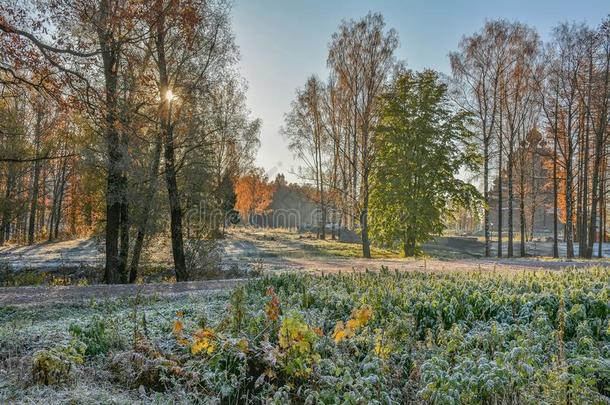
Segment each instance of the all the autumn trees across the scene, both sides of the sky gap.
[[[229,2],[1,7],[1,243],[99,235],[104,280],[124,283],[147,241],[167,236],[181,281],[185,249],[221,236],[226,215],[272,210],[282,177],[254,167],[260,121]],[[317,206],[309,229],[353,231],[363,257],[371,243],[414,255],[467,218],[485,256],[526,256],[549,229],[554,257],[563,242],[568,258],[601,256],[610,25],[562,23],[550,38],[489,21],[445,77],[409,71],[382,15],[342,22],[328,77],[297,89],[282,128],[301,161],[291,190]]]

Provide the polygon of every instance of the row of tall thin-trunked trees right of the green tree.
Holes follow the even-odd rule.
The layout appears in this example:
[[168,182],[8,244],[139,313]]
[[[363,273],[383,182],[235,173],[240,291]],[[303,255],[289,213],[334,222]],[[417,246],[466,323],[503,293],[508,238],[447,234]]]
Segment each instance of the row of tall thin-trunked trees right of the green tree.
[[[513,215],[518,206],[518,254],[526,255],[526,204],[535,204],[534,194],[546,187],[553,195],[548,207],[553,211],[553,256],[559,256],[563,223],[567,257],[574,257],[576,241],[578,256],[591,258],[594,243],[605,237],[607,222],[610,18],[595,29],[559,24],[548,43],[524,24],[490,21],[464,37],[450,58],[456,100],[476,117],[474,130],[484,157],[486,255],[492,250],[492,221],[498,224],[497,255],[504,254],[505,204],[506,253],[517,254]],[[544,154],[544,185],[526,174],[534,153]],[[489,192],[494,169],[500,182],[497,198]],[[489,215],[492,199],[498,204],[498,218]],[[601,256],[601,243],[598,249]]]

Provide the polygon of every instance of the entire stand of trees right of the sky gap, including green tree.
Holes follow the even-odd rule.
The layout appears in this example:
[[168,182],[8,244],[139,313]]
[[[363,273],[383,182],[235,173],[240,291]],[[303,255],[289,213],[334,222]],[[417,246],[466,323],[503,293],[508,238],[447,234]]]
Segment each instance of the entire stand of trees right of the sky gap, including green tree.
[[[359,230],[363,256],[370,257],[370,220],[383,218],[372,211],[390,206],[394,209],[394,214],[386,213],[394,220],[385,218],[389,229],[379,227],[379,222],[373,226],[373,239],[385,244],[405,242],[412,239],[405,236],[411,232],[407,228],[415,226],[417,230],[412,232],[420,235],[417,245],[441,233],[456,214],[463,216],[465,207],[478,211],[472,190],[462,188],[459,195],[450,193],[464,173],[475,173],[482,179],[483,203],[479,207],[486,256],[492,255],[492,221],[498,228],[497,255],[506,252],[509,257],[525,256],[527,230],[533,232],[535,211],[542,209],[553,211],[555,257],[559,255],[562,224],[567,256],[574,256],[577,241],[579,256],[592,257],[594,243],[606,234],[607,222],[610,19],[595,29],[584,24],[560,24],[548,43],[525,24],[490,21],[460,41],[458,50],[450,54],[452,75],[436,75],[437,83],[432,85],[428,80],[428,89],[423,86],[425,73],[413,76],[396,59],[397,47],[396,32],[385,27],[379,14],[344,21],[329,44],[328,79],[312,76],[297,90],[283,132],[303,163],[300,176],[317,190],[321,212],[339,208],[338,221]],[[425,97],[434,87],[444,89],[441,92],[446,94],[430,103]],[[406,104],[395,104],[392,110],[389,106],[401,93]],[[445,118],[434,128],[439,108],[444,109]],[[422,114],[430,125],[413,120]],[[454,133],[439,149],[443,155],[437,157],[452,170],[443,172],[441,165],[436,171],[426,171],[423,165],[429,161],[418,153],[428,152],[427,148],[437,145],[435,142],[446,139],[447,129],[439,128],[451,117],[461,117],[459,125],[464,125],[465,132]],[[384,122],[402,128],[388,130]],[[388,138],[392,132],[394,135]],[[387,149],[388,142],[396,142],[395,148],[411,146],[399,152]],[[448,153],[455,148],[463,155]],[[400,160],[402,168],[396,166]],[[474,167],[477,161],[480,163]],[[499,184],[495,187],[498,195],[492,196],[494,173]],[[436,175],[449,183],[437,189],[434,196],[424,193],[419,201],[413,200],[421,186],[416,184],[417,179]],[[412,179],[411,184],[407,184],[407,178]],[[430,187],[434,189],[432,183]],[[552,201],[540,197],[541,191],[550,190]],[[377,196],[376,207],[371,206],[373,195]],[[444,203],[435,202],[437,197]],[[490,216],[492,202],[498,205],[498,218]],[[433,210],[414,219],[412,212],[417,206],[434,206],[438,212]],[[515,218],[516,212],[519,218]],[[423,222],[409,223],[418,220]],[[327,221],[322,218],[323,223]],[[532,224],[528,226],[529,221]],[[504,222],[508,229],[504,229]],[[412,241],[408,244],[405,252],[413,253]],[[597,254],[601,255],[602,246],[598,246]]]

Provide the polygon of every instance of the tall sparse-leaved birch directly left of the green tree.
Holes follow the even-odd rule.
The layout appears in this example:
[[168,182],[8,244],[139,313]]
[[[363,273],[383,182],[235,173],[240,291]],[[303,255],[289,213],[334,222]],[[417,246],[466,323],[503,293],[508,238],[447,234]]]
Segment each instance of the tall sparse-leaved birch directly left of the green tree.
[[369,13],[358,21],[344,21],[333,34],[328,53],[328,65],[350,103],[351,148],[344,153],[351,153],[348,159],[352,166],[351,194],[356,201],[362,255],[366,258],[371,257],[368,208],[375,159],[374,128],[379,119],[378,98],[396,66],[397,47],[396,31],[385,30],[381,14]]

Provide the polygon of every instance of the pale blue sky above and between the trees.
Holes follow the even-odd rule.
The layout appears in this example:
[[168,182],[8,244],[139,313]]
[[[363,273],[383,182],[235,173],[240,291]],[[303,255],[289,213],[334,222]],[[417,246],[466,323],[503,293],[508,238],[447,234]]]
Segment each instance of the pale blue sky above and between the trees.
[[449,73],[448,53],[486,20],[506,18],[536,27],[543,39],[560,21],[597,26],[610,13],[608,0],[399,1],[236,0],[233,27],[241,49],[240,69],[249,83],[248,106],[263,120],[257,164],[271,177],[289,175],[298,162],[279,134],[295,89],[315,73],[327,76],[331,34],[342,19],[380,12],[400,37],[397,56],[412,69]]

